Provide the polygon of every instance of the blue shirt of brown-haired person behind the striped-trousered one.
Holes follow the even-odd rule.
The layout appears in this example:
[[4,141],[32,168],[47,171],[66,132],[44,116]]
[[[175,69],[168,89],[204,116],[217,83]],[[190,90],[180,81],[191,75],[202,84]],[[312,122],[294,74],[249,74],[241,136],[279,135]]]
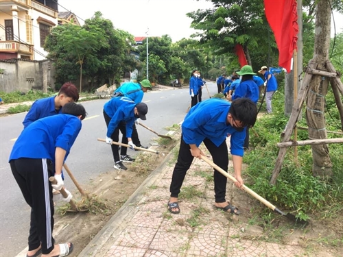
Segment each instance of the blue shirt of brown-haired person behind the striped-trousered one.
[[55,97],[38,99],[32,104],[29,112],[25,116],[23,121],[24,129],[38,119],[60,114],[61,111],[62,108],[59,110],[55,109]]

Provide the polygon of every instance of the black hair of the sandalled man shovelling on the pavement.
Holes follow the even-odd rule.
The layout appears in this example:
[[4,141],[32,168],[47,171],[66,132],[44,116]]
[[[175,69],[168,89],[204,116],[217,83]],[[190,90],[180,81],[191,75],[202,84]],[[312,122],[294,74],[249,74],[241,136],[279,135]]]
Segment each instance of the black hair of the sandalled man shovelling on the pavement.
[[233,100],[228,112],[233,116],[233,119],[241,121],[246,127],[255,125],[257,105],[249,98],[237,98]]

